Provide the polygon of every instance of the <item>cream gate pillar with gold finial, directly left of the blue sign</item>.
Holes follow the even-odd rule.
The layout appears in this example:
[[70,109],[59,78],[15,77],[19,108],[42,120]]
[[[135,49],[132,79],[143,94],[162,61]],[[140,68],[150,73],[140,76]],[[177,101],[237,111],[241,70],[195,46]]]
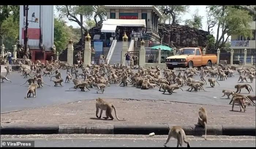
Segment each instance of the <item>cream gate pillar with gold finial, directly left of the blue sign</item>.
[[91,36],[89,33],[85,36],[84,45],[84,66],[91,65]]

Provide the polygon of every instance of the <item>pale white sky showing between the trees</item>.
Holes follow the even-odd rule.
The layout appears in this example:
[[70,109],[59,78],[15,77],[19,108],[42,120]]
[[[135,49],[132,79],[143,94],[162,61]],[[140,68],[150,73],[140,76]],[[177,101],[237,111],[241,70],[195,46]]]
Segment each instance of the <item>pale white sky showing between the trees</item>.
[[[202,28],[204,31],[207,31],[207,19],[206,19],[206,5],[190,5],[189,12],[185,13],[181,16],[182,21],[186,19],[192,19],[192,14],[195,13],[196,9],[198,9],[198,14],[203,16],[202,20]],[[54,15],[58,16],[57,10],[54,7]],[[78,17],[79,19],[79,17]],[[73,21],[65,20],[68,25],[72,25],[74,28],[79,28],[79,25]],[[180,23],[180,25],[184,25],[184,22]],[[219,32],[221,34],[221,31]],[[216,38],[217,36],[217,25],[213,28],[213,36]],[[226,36],[225,36],[226,38]],[[230,38],[230,37],[229,37]]]

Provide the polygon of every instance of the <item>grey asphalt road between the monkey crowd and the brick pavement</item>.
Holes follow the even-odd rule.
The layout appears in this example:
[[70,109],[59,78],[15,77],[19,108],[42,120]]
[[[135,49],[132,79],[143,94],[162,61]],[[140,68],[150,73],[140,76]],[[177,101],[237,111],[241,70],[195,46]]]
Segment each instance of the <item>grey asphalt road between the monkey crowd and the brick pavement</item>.
[[[62,77],[65,78],[65,71],[61,70]],[[204,86],[208,92],[187,92],[188,86],[183,87],[184,92],[180,89],[175,90],[177,93],[162,94],[157,88],[150,90],[141,90],[135,87],[122,87],[114,84],[110,85],[105,89],[103,94],[97,94],[96,89],[91,89],[89,92],[81,92],[79,90],[75,92],[65,92],[74,83],[63,83],[63,87],[54,87],[53,82],[50,82],[47,77],[43,77],[44,81],[51,85],[37,90],[36,98],[29,98],[25,100],[24,97],[27,92],[27,86],[20,86],[27,78],[22,78],[21,73],[12,72],[11,76],[7,76],[12,80],[12,83],[5,81],[1,83],[1,113],[13,110],[36,108],[52,104],[63,104],[67,102],[74,102],[80,100],[94,99],[98,97],[102,98],[133,98],[133,99],[164,99],[178,102],[189,102],[199,104],[210,104],[210,105],[223,105],[227,104],[229,100],[225,98],[219,98],[222,95],[222,89],[234,90],[234,85],[237,84],[238,75],[235,77],[229,77],[227,81],[219,81],[220,87],[217,84],[215,88],[210,88],[209,83]],[[208,78],[208,77],[207,77]],[[54,78],[53,78],[54,79]],[[196,76],[196,80],[199,80],[199,76]],[[255,82],[255,79],[254,79]],[[255,91],[255,83],[249,83],[252,85]],[[12,90],[12,91],[11,91]],[[248,93],[247,90],[242,90],[241,93]],[[255,92],[251,92],[255,94]],[[217,97],[217,98],[215,98]]]

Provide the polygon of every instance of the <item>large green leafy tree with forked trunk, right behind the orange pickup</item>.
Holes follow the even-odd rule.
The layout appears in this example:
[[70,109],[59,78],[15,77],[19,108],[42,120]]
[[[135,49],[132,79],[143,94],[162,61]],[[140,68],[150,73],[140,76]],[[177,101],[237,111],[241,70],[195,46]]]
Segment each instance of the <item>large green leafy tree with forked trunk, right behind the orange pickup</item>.
[[[237,9],[232,5],[210,5],[207,9],[209,9],[209,15],[213,18],[212,21],[218,25],[215,47],[225,46],[230,35],[252,37],[249,26],[252,19],[248,11]],[[219,35],[220,29],[222,29],[221,35]],[[224,35],[226,34],[225,39]]]

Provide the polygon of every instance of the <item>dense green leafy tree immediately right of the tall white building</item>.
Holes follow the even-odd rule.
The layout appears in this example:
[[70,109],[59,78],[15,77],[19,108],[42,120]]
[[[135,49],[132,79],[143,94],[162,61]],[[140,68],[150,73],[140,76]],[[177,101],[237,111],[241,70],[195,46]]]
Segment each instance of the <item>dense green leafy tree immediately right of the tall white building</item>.
[[66,49],[70,35],[68,34],[68,27],[63,20],[54,18],[54,45],[56,51]]

